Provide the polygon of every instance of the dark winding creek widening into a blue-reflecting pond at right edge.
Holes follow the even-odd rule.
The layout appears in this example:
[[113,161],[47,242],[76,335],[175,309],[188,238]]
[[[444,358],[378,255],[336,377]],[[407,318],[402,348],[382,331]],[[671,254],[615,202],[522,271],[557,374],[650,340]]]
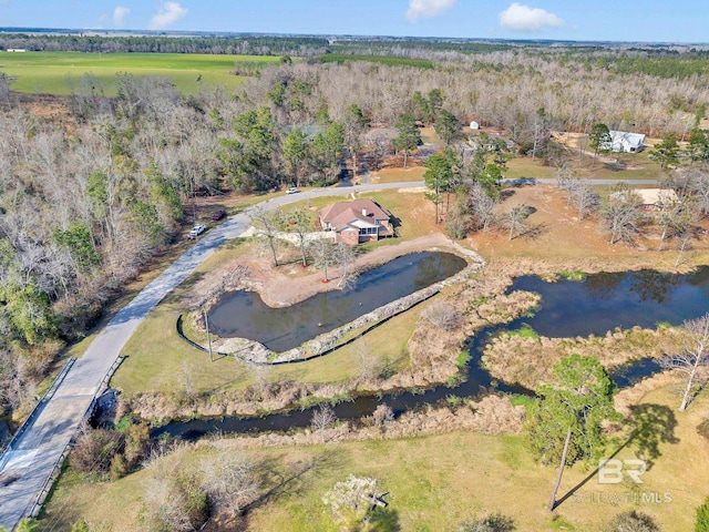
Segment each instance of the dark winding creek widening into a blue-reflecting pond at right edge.
[[[424,405],[435,403],[449,396],[474,397],[485,390],[508,393],[530,393],[521,387],[497,382],[480,367],[480,357],[491,336],[532,326],[549,337],[602,335],[616,327],[655,327],[659,321],[679,325],[709,310],[709,268],[691,275],[669,275],[657,272],[589,275],[584,283],[561,280],[546,283],[538,277],[518,278],[508,291],[532,290],[542,295],[542,307],[532,318],[520,318],[504,326],[483,329],[471,342],[467,380],[456,387],[438,386],[423,392],[403,391],[382,397],[360,396],[335,406],[339,419],[359,419],[370,416],[378,405],[386,403],[394,415]],[[619,388],[659,371],[659,365],[643,358],[618,368],[612,378]],[[289,413],[275,413],[263,418],[195,419],[176,421],[153,431],[153,436],[168,433],[192,440],[207,433],[260,432],[308,427],[312,409]]]

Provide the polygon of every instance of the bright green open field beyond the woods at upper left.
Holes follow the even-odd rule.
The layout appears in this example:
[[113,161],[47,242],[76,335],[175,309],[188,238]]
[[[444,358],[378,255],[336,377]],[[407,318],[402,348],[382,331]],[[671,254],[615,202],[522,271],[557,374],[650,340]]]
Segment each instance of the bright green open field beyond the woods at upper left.
[[0,54],[0,72],[14,79],[13,91],[41,94],[79,92],[84,74],[96,76],[106,95],[115,95],[116,73],[136,76],[163,75],[177,89],[192,94],[209,85],[236,89],[245,80],[232,75],[235,63],[277,63],[279,58],[263,55],[212,55],[182,53],[82,53],[24,52]]

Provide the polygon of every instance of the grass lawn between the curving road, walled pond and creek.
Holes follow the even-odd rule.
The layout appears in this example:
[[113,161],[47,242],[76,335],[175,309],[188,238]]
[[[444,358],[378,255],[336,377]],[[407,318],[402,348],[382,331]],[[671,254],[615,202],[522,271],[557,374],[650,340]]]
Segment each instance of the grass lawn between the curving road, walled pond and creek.
[[[185,311],[182,298],[193,283],[205,272],[238,258],[255,244],[232,241],[203,263],[197,270],[175,291],[169,294],[138,326],[122,350],[127,358],[123,361],[111,385],[121,389],[126,397],[141,391],[169,393],[184,388],[184,375],[191,375],[196,392],[239,390],[256,382],[255,376],[242,364],[230,358],[218,358],[209,362],[208,355],[196,350],[175,331],[175,320]],[[425,305],[390,319],[384,327],[378,327],[366,337],[330,354],[306,364],[275,366],[268,370],[268,381],[296,380],[300,382],[341,382],[354,378],[361,367],[362,354],[374,356],[377,366],[389,371],[405,368],[409,356],[407,342]],[[187,336],[204,340],[185,327]]]

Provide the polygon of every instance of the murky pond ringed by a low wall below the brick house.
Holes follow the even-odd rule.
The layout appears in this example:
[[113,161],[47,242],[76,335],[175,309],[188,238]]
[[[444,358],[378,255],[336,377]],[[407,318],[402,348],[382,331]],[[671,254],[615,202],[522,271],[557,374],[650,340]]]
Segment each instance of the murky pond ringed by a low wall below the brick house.
[[255,291],[227,291],[209,313],[209,330],[222,338],[249,338],[273,351],[286,351],[446,279],[465,265],[465,259],[451,253],[403,255],[363,272],[351,289],[320,293],[285,308],[267,306]]

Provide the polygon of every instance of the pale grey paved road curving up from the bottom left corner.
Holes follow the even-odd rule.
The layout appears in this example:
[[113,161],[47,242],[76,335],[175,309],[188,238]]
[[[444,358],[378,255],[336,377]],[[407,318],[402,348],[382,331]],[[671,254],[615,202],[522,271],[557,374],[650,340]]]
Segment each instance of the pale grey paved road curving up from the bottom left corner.
[[[357,192],[422,186],[423,183],[386,183],[357,187],[322,188],[278,196],[263,202],[267,208],[307,198],[348,195]],[[122,308],[76,360],[56,391],[38,408],[24,432],[0,457],[0,525],[12,529],[34,503],[38,491],[52,473],[56,460],[76,432],[94,395],[116,361],[121,349],[136,327],[173,288],[178,286],[203,260],[225,242],[250,226],[254,207],[239,213],[205,233],[160,277],[147,285]]]

